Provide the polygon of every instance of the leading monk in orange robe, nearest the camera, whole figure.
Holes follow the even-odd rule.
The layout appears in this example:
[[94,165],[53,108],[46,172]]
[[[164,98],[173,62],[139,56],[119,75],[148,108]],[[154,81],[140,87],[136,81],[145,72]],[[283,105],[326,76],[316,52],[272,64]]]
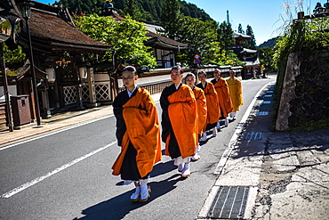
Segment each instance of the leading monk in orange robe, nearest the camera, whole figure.
[[132,201],[146,201],[150,196],[148,176],[161,160],[161,139],[156,104],[146,89],[136,86],[136,69],[128,66],[122,78],[126,89],[116,96],[116,138],[121,153],[113,165],[113,175],[124,183],[134,182]]

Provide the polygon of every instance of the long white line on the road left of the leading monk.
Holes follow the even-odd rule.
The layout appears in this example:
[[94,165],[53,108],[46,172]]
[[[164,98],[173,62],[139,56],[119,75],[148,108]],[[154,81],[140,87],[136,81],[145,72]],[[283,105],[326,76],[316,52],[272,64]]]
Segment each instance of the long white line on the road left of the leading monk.
[[37,177],[36,179],[32,180],[31,182],[28,182],[28,183],[22,184],[22,185],[20,185],[19,187],[13,189],[12,191],[8,191],[8,192],[4,193],[1,197],[2,197],[2,198],[5,198],[5,199],[8,199],[8,198],[10,198],[11,196],[13,196],[14,194],[19,193],[20,191],[24,191],[24,190],[26,190],[28,187],[30,187],[30,186],[32,186],[32,185],[34,185],[34,184],[36,184],[36,183],[39,183],[39,182],[43,181],[44,179],[46,179],[46,178],[48,178],[48,177],[50,177],[50,176],[52,176],[52,175],[55,175],[55,174],[59,173],[60,171],[63,171],[64,169],[66,169],[66,168],[68,168],[68,167],[71,167],[72,165],[75,165],[76,163],[78,163],[78,162],[80,162],[80,161],[82,161],[82,160],[84,160],[84,159],[87,159],[87,158],[91,157],[92,155],[94,155],[94,154],[96,154],[96,153],[98,153],[98,152],[100,152],[100,151],[103,151],[103,150],[107,149],[108,147],[112,146],[112,145],[115,144],[115,143],[116,143],[116,142],[109,143],[109,144],[106,145],[105,147],[102,147],[102,148],[100,148],[100,149],[98,149],[98,150],[96,150],[96,151],[92,151],[92,152],[90,152],[90,153],[84,155],[83,157],[81,157],[81,158],[79,158],[79,159],[75,159],[75,160],[69,162],[68,164],[65,164],[65,165],[63,165],[63,166],[61,166],[61,167],[59,167],[59,168],[53,170],[52,172],[49,172],[49,173],[46,174],[46,175],[43,175],[43,176]]

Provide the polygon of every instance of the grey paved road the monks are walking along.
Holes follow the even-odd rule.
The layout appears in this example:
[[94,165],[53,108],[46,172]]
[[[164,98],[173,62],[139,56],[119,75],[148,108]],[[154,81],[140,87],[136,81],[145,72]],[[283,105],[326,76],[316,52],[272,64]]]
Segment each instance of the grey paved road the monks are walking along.
[[238,121],[253,96],[270,82],[275,77],[243,82],[244,105],[237,120],[202,146],[188,179],[164,156],[151,173],[152,193],[146,203],[132,203],[133,185],[111,175],[120,151],[114,117],[3,151],[0,147],[0,219],[196,219]]

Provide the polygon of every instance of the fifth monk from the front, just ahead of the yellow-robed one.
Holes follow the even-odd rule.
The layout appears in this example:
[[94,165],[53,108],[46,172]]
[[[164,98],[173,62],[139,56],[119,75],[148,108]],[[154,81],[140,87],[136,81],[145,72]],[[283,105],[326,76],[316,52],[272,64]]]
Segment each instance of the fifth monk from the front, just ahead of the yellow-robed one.
[[[218,96],[218,102],[221,110],[220,119],[225,119],[225,126],[229,126],[228,115],[233,109],[231,98],[229,96],[229,85],[226,80],[221,77],[220,69],[215,69],[213,71],[213,77],[214,78],[211,82],[213,83]],[[217,131],[221,130],[220,122],[217,122],[216,128]]]

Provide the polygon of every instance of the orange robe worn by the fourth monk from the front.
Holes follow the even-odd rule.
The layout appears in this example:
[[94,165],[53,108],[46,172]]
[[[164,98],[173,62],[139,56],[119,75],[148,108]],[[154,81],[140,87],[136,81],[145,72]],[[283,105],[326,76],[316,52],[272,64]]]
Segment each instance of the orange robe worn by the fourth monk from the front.
[[212,83],[205,82],[205,88],[199,83],[197,84],[197,87],[202,88],[205,92],[207,120],[205,122],[204,131],[206,131],[216,126],[221,117],[221,110],[218,104],[217,93]]

